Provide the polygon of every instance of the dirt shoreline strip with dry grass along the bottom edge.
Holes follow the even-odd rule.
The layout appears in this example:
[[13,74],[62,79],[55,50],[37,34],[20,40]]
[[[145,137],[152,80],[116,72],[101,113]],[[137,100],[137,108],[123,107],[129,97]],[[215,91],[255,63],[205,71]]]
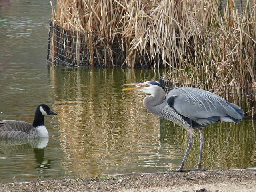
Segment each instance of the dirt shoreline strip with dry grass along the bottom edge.
[[256,168],[198,172],[117,174],[0,184],[0,191],[56,192],[255,192]]

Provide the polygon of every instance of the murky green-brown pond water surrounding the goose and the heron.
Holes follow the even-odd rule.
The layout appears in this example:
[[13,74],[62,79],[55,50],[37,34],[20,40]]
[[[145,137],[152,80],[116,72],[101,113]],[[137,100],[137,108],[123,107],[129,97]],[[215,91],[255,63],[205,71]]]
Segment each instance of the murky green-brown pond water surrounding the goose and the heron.
[[[0,182],[179,168],[188,132],[150,114],[144,93],[121,86],[158,80],[163,71],[47,65],[50,17],[48,0],[0,1],[0,120],[32,123],[41,103],[58,113],[45,117],[46,141],[0,141]],[[256,166],[255,121],[217,123],[204,136],[204,168]],[[196,137],[185,169],[196,167],[198,153]]]

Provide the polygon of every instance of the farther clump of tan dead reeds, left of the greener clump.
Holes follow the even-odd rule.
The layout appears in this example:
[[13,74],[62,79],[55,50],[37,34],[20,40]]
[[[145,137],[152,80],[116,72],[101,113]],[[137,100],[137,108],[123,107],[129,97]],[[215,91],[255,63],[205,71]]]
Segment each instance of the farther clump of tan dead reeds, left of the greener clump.
[[[202,26],[208,24],[210,14],[207,6],[204,0],[57,0],[52,22],[64,30],[83,32],[72,32],[74,37],[88,37],[89,42],[73,42],[78,64],[83,60],[81,45],[85,45],[82,48],[90,49],[89,65],[100,55],[103,62],[112,61],[112,65],[121,61],[120,66],[128,67],[177,67],[184,62],[188,44],[197,34],[204,34]],[[50,41],[55,45],[54,36],[58,35],[52,36]],[[65,36],[58,37],[66,46],[72,44]],[[52,62],[57,48],[50,51]],[[114,53],[124,58],[115,58]]]

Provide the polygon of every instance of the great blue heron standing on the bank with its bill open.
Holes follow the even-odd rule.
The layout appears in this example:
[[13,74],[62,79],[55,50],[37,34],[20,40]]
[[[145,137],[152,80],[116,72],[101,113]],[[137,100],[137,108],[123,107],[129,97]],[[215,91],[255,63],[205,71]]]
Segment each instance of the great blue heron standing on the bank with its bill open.
[[198,166],[195,170],[201,170],[204,145],[202,127],[218,121],[238,123],[244,117],[244,111],[239,106],[228,103],[222,97],[202,89],[178,87],[172,89],[165,98],[164,87],[157,81],[125,84],[123,86],[135,86],[125,88],[123,89],[124,91],[138,90],[149,93],[150,95],[146,95],[143,99],[143,105],[148,111],[189,130],[188,148],[178,171],[183,170],[188,152],[193,143],[193,128],[198,128],[200,134],[200,153]]

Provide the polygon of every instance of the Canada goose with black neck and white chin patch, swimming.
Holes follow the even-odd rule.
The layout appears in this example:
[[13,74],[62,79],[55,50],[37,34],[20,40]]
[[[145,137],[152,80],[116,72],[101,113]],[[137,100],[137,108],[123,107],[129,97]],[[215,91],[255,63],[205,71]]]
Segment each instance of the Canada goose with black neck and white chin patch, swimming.
[[2,120],[0,121],[1,139],[22,139],[34,137],[49,137],[48,131],[44,126],[45,115],[57,115],[48,105],[38,105],[35,112],[33,125],[25,121]]

